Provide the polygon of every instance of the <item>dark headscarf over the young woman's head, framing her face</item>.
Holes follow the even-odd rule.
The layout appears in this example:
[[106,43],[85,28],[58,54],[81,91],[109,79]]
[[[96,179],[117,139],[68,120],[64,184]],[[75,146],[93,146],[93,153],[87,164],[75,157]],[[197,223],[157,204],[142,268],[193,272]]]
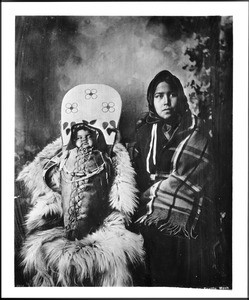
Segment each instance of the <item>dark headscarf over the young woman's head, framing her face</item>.
[[174,91],[177,93],[177,96],[178,96],[178,103],[177,103],[178,113],[180,115],[183,115],[186,112],[186,110],[188,110],[188,108],[189,108],[187,98],[184,94],[183,87],[182,87],[182,84],[181,84],[180,80],[167,70],[159,72],[152,79],[151,83],[149,84],[149,87],[148,87],[148,90],[147,90],[147,101],[148,101],[148,104],[149,104],[150,112],[156,113],[155,107],[154,107],[154,94],[155,94],[156,87],[158,86],[158,84],[160,82],[168,83],[171,86],[171,88],[173,88]]

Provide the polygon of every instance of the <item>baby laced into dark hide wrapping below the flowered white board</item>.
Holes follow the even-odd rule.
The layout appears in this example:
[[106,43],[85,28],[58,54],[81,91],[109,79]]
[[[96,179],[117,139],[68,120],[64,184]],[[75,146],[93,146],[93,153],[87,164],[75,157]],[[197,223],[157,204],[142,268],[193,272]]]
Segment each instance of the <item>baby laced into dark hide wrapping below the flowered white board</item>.
[[[69,240],[94,232],[108,212],[112,162],[100,146],[101,132],[85,123],[72,127],[69,149],[56,163],[45,166],[47,184],[61,190],[63,220]],[[102,138],[103,140],[103,138]],[[99,150],[102,148],[102,151]],[[57,157],[58,159],[58,157]]]

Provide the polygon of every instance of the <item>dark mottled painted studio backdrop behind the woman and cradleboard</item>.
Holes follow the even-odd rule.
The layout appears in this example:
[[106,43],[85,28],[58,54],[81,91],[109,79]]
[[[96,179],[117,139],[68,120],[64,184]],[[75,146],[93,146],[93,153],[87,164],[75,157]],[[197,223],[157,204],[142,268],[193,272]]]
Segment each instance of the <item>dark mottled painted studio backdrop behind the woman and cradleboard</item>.
[[[81,12],[84,14],[84,12]],[[163,69],[180,78],[190,108],[207,120],[213,137],[221,218],[219,285],[231,286],[232,245],[232,18],[16,17],[15,172],[60,136],[60,106],[77,84],[103,83],[123,101],[123,141],[147,110],[146,91]],[[16,188],[16,259],[28,203]],[[22,205],[19,205],[22,203]],[[22,284],[16,268],[16,284]]]

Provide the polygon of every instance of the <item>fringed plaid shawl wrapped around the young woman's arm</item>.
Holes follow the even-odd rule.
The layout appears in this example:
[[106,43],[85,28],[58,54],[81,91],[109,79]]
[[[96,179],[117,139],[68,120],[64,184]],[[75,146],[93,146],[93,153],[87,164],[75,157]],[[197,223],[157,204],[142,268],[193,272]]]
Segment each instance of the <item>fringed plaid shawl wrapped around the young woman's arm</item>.
[[141,197],[146,213],[137,222],[156,225],[168,235],[195,238],[194,229],[209,198],[203,190],[212,174],[208,140],[192,131],[176,148],[172,172],[155,182]]

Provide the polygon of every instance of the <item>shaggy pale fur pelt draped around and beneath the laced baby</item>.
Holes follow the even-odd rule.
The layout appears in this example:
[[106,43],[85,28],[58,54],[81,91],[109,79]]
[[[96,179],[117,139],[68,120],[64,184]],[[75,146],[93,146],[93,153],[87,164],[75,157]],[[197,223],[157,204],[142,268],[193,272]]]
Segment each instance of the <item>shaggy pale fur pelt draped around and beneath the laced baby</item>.
[[[17,180],[31,193],[22,247],[24,273],[32,286],[131,286],[131,266],[143,263],[143,238],[126,229],[136,208],[134,170],[126,148],[117,143],[112,158],[115,176],[109,193],[112,212],[99,229],[70,241],[61,226],[61,195],[43,181],[43,166],[61,149],[61,140],[46,146]],[[49,216],[49,217],[48,217]],[[51,218],[51,216],[53,216]]]

